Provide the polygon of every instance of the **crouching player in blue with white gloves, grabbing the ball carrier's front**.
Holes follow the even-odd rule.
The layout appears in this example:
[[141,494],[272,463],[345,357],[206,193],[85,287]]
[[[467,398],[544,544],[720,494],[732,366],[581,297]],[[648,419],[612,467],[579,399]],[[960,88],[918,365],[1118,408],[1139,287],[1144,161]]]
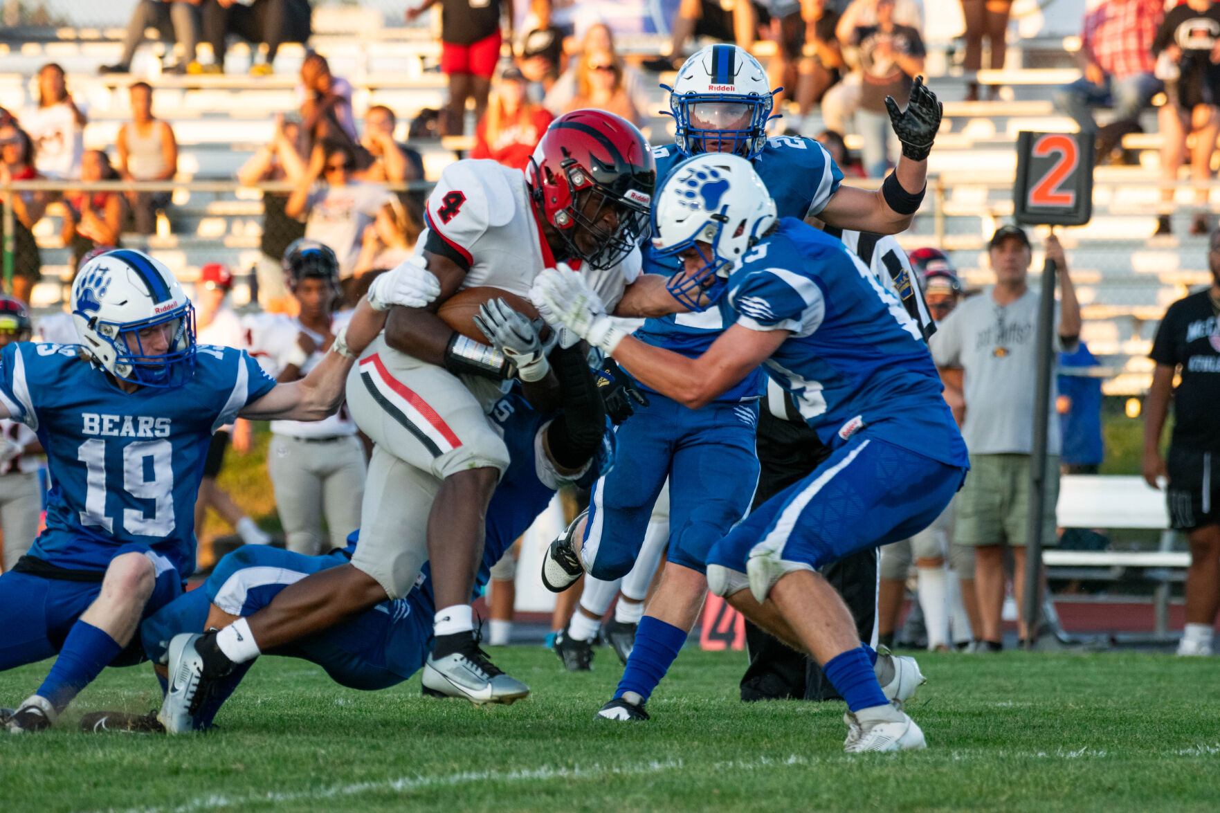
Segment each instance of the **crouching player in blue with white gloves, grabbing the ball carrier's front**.
[[[716,304],[722,336],[699,358],[650,347],[609,316],[578,275],[548,270],[539,313],[611,354],[643,385],[698,408],[759,364],[832,453],[708,555],[708,582],[747,618],[813,656],[848,703],[848,751],[924,747],[894,708],[843,599],[816,568],[925,529],[961,486],[965,443],[915,321],[843,244],[776,205],[749,162],[700,155],[664,182],[653,245],[682,260],[670,280]],[[622,699],[622,698],[620,698]]]

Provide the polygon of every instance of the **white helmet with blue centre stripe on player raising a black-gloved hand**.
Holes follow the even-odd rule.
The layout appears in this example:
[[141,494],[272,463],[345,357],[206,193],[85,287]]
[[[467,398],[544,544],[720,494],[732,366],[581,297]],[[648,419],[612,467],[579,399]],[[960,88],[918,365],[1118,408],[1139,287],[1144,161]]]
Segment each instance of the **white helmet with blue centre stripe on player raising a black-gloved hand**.
[[754,159],[766,145],[777,92],[745,49],[708,45],[682,63],[672,88],[661,87],[670,92],[673,143],[683,155],[720,151]]

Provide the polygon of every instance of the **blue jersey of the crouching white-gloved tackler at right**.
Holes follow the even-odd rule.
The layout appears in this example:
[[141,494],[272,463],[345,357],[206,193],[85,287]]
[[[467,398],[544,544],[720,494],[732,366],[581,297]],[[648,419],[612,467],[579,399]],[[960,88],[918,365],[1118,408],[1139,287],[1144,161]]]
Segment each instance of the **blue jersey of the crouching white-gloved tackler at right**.
[[780,221],[728,277],[726,323],[792,336],[764,363],[832,449],[870,435],[949,465],[966,444],[919,325],[838,239]]

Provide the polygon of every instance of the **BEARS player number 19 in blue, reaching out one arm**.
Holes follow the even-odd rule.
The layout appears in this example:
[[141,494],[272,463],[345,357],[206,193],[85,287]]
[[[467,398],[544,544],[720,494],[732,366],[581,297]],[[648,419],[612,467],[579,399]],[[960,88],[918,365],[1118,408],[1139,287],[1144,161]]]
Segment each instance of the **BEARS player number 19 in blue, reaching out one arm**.
[[77,275],[79,345],[21,342],[0,353],[0,417],[38,433],[56,482],[46,530],[0,576],[0,670],[59,653],[38,691],[5,714],[11,731],[49,728],[105,667],[143,659],[140,619],[194,569],[212,432],[234,417],[318,420],[338,409],[355,354],[386,321],[377,309],[439,291],[420,273],[386,276],[376,305],[361,303],[327,358],[289,385],[242,350],[196,345],[173,273],[126,249]]

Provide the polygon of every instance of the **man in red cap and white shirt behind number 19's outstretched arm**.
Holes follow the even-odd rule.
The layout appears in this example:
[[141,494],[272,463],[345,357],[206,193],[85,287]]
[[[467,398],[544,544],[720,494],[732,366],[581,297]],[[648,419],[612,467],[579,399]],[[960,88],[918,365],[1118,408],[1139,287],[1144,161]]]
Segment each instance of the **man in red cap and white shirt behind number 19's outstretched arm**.
[[[228,306],[226,299],[233,288],[233,272],[221,262],[209,262],[199,270],[199,282],[195,283],[195,342],[198,344],[216,344],[220,347],[245,347],[245,331],[237,313]],[[235,421],[212,435],[204,459],[204,479],[199,483],[199,497],[195,498],[195,529],[204,526],[204,514],[211,508],[233,526],[245,544],[267,544],[271,537],[254,520],[246,516],[228,492],[216,483],[224,463],[224,447],[229,437],[233,448],[245,454],[250,449],[253,428],[249,421]]]

